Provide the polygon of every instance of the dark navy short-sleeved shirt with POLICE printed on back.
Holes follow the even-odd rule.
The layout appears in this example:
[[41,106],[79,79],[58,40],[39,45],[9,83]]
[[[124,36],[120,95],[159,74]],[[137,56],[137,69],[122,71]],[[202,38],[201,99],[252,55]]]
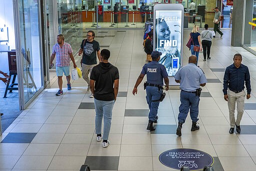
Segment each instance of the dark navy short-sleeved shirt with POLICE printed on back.
[[144,64],[141,74],[146,74],[146,81],[148,83],[155,83],[163,85],[163,78],[168,77],[165,67],[155,60]]

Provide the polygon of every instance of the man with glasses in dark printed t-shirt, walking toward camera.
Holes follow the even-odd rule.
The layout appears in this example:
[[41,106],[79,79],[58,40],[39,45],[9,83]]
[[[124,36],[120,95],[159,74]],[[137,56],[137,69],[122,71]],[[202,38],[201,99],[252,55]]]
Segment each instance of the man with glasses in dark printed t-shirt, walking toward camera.
[[[82,54],[82,78],[88,84],[87,91],[90,90],[88,74],[89,72],[91,72],[92,67],[97,64],[96,55],[98,57],[98,60],[100,61],[99,43],[94,40],[94,36],[94,31],[89,30],[87,32],[87,38],[82,40],[80,50],[78,52],[79,56]],[[90,94],[90,97],[93,97],[92,93]]]

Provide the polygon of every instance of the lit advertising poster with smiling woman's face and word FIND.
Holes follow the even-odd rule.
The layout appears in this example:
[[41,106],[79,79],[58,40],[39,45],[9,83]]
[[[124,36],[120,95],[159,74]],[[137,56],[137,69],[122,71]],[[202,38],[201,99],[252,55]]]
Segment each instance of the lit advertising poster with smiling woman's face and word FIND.
[[162,52],[159,63],[169,76],[174,76],[180,67],[181,10],[155,11],[155,50]]

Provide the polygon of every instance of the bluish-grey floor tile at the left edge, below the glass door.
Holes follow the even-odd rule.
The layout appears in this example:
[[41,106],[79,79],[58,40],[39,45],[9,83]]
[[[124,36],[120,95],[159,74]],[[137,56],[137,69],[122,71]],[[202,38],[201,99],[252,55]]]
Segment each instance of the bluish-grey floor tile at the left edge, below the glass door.
[[1,143],[30,143],[35,135],[36,133],[10,132]]

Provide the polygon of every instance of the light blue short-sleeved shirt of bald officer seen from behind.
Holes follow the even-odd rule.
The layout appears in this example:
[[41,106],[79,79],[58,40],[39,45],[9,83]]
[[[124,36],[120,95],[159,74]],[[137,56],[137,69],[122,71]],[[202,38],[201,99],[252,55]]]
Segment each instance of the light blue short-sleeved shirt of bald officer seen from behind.
[[179,87],[185,91],[195,91],[200,87],[200,83],[207,82],[202,69],[194,63],[188,63],[180,67],[174,78],[180,80]]

